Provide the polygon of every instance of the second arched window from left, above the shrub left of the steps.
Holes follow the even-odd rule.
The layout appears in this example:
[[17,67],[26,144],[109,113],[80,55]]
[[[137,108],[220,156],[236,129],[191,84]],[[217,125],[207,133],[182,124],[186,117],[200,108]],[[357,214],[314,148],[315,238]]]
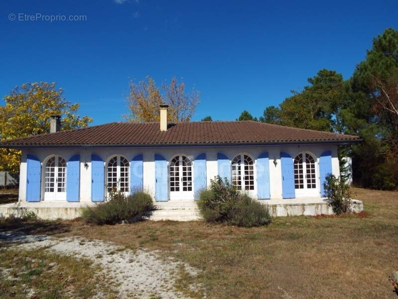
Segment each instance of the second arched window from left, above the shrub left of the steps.
[[106,177],[108,190],[130,191],[130,164],[125,157],[115,155],[108,161]]

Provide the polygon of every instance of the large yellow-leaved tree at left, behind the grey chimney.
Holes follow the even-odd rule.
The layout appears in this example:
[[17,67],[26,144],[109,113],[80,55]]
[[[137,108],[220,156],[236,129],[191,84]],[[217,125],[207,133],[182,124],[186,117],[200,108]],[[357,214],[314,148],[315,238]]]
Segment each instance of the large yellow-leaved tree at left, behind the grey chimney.
[[[0,140],[50,132],[50,116],[62,116],[61,130],[87,127],[91,117],[77,115],[80,104],[71,104],[56,83],[25,83],[4,97],[0,106]],[[19,172],[20,150],[0,149],[0,170]]]

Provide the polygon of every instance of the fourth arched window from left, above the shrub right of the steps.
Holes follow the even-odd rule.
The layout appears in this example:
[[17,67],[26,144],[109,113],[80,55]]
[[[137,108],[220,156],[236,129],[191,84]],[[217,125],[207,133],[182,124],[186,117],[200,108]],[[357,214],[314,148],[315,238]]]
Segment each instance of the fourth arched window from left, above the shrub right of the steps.
[[231,167],[232,184],[236,187],[236,189],[254,190],[253,159],[247,154],[238,154],[233,158]]

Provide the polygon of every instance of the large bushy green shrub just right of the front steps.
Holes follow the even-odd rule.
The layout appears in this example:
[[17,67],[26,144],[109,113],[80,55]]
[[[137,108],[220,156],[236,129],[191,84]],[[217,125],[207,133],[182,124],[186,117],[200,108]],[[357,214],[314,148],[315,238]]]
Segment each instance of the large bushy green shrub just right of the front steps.
[[267,206],[245,192],[237,191],[228,180],[217,176],[209,189],[199,193],[198,207],[207,222],[252,227],[271,223]]

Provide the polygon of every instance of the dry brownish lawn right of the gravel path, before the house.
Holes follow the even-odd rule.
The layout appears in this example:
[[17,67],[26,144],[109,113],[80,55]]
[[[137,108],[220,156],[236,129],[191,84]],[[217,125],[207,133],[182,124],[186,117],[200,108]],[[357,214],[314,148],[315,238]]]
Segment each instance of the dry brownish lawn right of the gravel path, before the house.
[[[18,229],[160,250],[201,270],[194,297],[397,298],[388,278],[398,269],[398,192],[354,191],[367,217],[281,217],[250,229],[201,221],[36,222]],[[185,276],[177,287],[192,282]]]

